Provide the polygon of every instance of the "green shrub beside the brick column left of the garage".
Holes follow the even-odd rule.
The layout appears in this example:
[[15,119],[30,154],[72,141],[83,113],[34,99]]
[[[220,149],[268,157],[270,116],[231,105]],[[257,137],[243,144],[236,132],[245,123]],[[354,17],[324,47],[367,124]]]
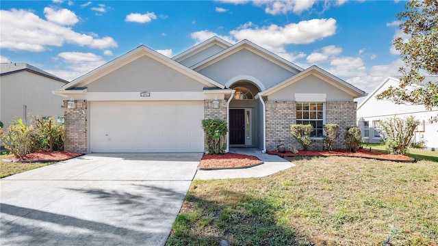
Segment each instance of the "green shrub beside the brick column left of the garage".
[[34,151],[63,151],[64,150],[64,126],[53,124],[53,118],[44,120],[34,117]]

